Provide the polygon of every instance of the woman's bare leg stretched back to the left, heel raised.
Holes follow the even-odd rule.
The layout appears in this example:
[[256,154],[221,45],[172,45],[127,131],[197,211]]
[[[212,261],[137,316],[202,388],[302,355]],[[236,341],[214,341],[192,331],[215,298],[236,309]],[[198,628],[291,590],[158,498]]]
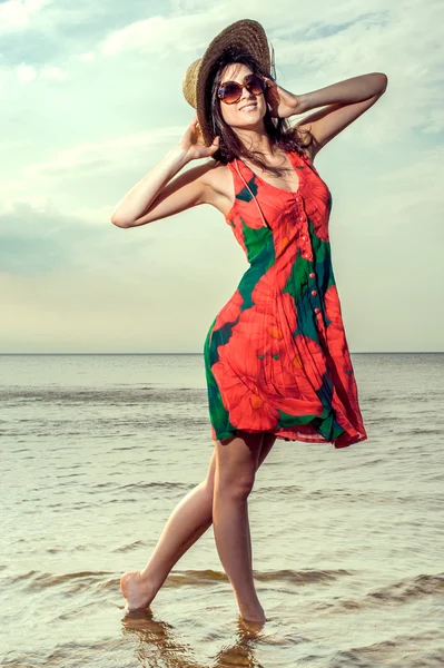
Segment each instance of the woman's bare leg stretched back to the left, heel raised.
[[[275,440],[273,434],[264,434],[258,466]],[[206,479],[188,492],[172,511],[146,567],[141,571],[128,571],[121,577],[120,589],[127,599],[127,610],[148,607],[177,561],[211,525],[215,469],[216,452],[211,455]]]

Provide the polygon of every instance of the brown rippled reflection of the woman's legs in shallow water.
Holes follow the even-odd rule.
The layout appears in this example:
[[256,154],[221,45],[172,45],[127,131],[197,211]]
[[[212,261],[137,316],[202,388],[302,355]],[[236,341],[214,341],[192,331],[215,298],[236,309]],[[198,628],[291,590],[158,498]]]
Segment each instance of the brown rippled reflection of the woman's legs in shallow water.
[[[189,645],[175,638],[174,627],[154,619],[149,609],[129,612],[122,619],[122,626],[124,635],[138,638],[136,656],[144,668],[208,668],[193,658]],[[260,637],[264,625],[246,622],[239,618],[236,642],[217,652],[211,668],[260,668],[255,660],[254,642]]]

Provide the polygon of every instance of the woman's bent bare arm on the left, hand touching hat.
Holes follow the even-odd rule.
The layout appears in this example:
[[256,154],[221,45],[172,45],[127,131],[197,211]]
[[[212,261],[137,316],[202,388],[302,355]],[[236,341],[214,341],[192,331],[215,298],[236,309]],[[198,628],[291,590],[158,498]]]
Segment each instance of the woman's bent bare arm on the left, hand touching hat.
[[211,165],[193,167],[169,181],[185,165],[210,157],[218,147],[218,138],[210,147],[204,146],[195,117],[178,146],[169,150],[120,200],[111,214],[114,225],[136,227],[208,202],[211,189],[204,177]]

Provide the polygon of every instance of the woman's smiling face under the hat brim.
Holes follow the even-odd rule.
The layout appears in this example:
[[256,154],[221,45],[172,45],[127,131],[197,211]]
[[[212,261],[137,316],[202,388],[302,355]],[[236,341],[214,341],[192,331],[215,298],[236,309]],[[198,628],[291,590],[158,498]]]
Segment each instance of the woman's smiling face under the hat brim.
[[[224,69],[220,85],[226,81],[237,81],[244,84],[244,79],[247,75],[251,75],[253,70],[240,62],[234,62],[227,65]],[[243,88],[240,99],[233,105],[226,105],[223,100],[218,100],[220,105],[220,112],[225,122],[233,128],[247,129],[247,130],[259,130],[264,128],[263,118],[267,110],[267,104],[264,94],[254,95],[248,92],[246,88]]]

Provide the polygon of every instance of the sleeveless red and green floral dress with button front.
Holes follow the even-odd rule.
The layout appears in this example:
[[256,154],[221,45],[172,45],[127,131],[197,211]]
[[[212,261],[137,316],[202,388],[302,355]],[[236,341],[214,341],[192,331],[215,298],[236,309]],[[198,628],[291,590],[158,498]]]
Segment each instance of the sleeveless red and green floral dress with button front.
[[226,216],[249,267],[204,344],[214,440],[245,432],[346,448],[367,434],[332,267],[332,194],[305,154],[287,154],[298,189],[228,163]]

